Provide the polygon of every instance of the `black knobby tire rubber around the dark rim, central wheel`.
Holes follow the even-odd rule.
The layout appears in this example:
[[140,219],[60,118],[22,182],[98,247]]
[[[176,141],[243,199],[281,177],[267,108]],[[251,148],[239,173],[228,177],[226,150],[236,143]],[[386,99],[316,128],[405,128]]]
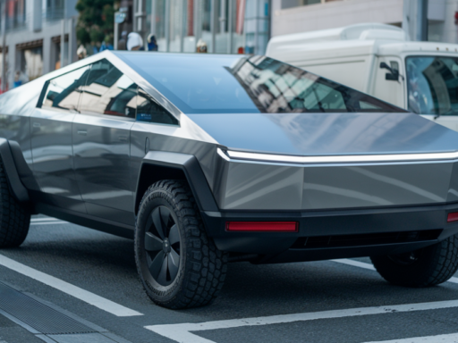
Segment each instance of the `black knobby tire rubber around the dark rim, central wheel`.
[[[180,265],[168,286],[160,285],[149,272],[145,247],[148,216],[152,217],[159,206],[170,210],[181,239]],[[161,180],[148,188],[140,202],[134,244],[140,280],[148,297],[157,305],[170,309],[208,305],[223,288],[227,253],[219,251],[208,238],[199,208],[185,181]]]

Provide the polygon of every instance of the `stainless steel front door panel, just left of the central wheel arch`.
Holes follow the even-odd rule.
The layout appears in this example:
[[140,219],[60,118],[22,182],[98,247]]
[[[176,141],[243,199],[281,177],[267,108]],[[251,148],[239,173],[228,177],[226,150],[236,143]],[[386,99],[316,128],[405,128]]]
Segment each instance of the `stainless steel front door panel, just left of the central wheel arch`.
[[74,169],[89,214],[132,224],[131,126],[134,121],[79,113],[72,122]]

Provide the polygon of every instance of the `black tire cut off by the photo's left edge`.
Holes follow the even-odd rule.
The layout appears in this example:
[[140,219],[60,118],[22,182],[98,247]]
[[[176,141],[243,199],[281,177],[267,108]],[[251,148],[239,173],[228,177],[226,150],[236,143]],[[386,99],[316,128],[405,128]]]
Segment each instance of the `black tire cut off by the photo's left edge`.
[[21,246],[29,227],[29,205],[21,204],[13,197],[0,159],[0,248]]

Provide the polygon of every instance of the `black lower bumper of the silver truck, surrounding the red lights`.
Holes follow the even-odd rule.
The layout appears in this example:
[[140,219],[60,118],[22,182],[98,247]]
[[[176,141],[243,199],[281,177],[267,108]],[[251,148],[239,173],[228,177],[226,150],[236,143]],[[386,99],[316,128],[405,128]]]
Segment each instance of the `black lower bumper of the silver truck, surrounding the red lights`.
[[[338,211],[203,212],[220,250],[260,255],[259,262],[312,261],[398,254],[458,233],[448,213],[458,203]],[[226,222],[299,222],[298,232],[228,232]]]

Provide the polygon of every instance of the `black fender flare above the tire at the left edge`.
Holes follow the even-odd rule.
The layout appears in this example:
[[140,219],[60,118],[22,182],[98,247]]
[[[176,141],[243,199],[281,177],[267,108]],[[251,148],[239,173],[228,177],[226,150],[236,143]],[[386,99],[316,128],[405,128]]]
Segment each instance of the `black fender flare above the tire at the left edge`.
[[16,163],[14,162],[12,148],[10,142],[5,138],[0,138],[0,156],[4,163],[4,171],[13,197],[21,203],[30,201],[29,191],[21,182]]

